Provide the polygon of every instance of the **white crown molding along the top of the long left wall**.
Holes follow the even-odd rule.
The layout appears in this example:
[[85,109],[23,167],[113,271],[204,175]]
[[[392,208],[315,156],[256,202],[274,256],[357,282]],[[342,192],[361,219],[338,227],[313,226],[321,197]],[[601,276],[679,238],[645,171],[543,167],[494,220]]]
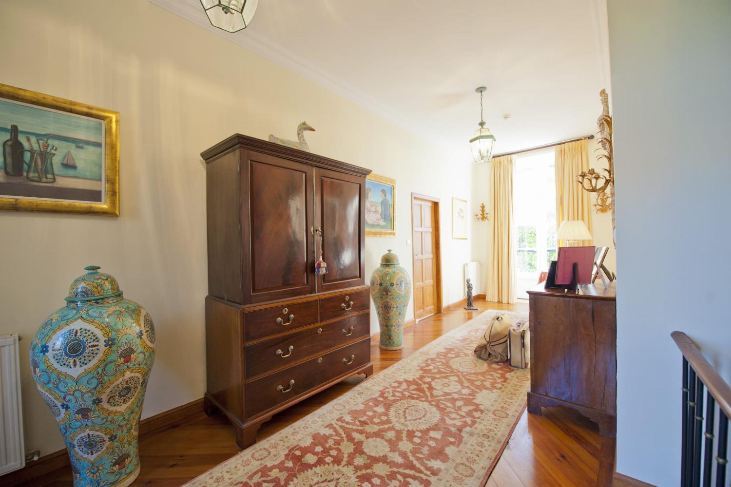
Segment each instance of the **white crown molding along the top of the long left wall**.
[[[260,34],[256,34],[251,29],[244,29],[236,34],[230,34],[226,31],[222,31],[220,28],[211,26],[211,22],[208,21],[208,17],[203,12],[199,0],[148,0],[152,4],[162,7],[163,9],[173,12],[175,15],[179,15],[186,20],[190,20],[192,23],[205,28],[213,34],[219,35],[224,39],[228,39],[234,44],[240,45],[252,53],[260,55],[262,58],[268,59],[275,64],[279,64],[284,69],[299,74],[302,77],[307,78],[313,83],[322,86],[333,93],[342,96],[344,99],[352,101],[360,107],[373,112],[381,118],[390,120],[391,122],[401,126],[403,129],[413,132],[419,137],[420,129],[409,123],[404,117],[398,115],[393,110],[390,110],[385,104],[376,101],[370,96],[366,96],[364,93],[358,91],[352,85],[341,83],[336,80],[332,75],[323,72],[319,69],[315,69],[312,66],[308,66],[296,58],[295,55],[272,42],[269,39]],[[255,21],[255,20],[254,20]]]

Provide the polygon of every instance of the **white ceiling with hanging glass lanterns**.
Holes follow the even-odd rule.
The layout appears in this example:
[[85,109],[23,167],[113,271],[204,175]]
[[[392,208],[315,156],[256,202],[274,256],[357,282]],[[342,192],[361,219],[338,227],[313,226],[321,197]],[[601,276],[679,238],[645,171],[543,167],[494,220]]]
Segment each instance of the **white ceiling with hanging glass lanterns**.
[[260,0],[236,34],[150,1],[466,159],[477,86],[496,153],[593,133],[610,90],[605,0]]

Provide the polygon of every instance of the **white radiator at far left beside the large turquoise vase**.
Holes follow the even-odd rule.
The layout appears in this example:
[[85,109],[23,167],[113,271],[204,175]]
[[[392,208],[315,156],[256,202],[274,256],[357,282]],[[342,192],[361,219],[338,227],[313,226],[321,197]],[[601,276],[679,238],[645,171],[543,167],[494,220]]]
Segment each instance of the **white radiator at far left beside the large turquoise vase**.
[[0,475],[26,465],[19,355],[18,334],[0,335]]

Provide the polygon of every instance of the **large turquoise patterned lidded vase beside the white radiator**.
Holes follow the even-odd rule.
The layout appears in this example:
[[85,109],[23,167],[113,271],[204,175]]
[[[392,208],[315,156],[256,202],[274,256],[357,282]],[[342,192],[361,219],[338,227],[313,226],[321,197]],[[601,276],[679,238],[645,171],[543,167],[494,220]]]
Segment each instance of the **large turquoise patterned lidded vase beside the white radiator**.
[[86,267],[31,342],[38,390],[64,436],[76,487],[129,486],[155,328],[114,277]]

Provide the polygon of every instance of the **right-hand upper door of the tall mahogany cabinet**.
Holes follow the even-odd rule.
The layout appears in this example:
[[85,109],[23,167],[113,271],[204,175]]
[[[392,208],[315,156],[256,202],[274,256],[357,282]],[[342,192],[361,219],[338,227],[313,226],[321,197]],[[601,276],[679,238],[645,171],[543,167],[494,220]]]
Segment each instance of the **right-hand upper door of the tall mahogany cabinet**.
[[327,274],[318,276],[318,292],[362,285],[366,273],[366,234],[363,231],[365,178],[316,168],[315,227],[322,229],[322,245],[315,235],[315,258],[327,263]]

